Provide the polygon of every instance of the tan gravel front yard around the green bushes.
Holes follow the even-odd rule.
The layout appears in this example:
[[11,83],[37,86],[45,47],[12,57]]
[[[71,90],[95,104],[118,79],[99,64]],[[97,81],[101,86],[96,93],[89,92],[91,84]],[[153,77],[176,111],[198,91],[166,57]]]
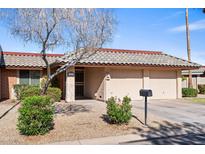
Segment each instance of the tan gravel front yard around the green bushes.
[[[9,103],[0,103],[0,113]],[[18,108],[20,104],[0,119],[0,144],[48,144],[52,142],[89,139],[105,136],[117,136],[149,131],[143,127],[143,113],[133,108],[133,114],[139,119],[132,118],[128,125],[113,125],[104,120],[106,104],[95,100],[79,100],[75,103],[59,102],[55,104],[55,126],[43,136],[24,136],[16,130]],[[170,121],[169,121],[170,122]],[[149,114],[148,124],[158,128],[167,120]]]

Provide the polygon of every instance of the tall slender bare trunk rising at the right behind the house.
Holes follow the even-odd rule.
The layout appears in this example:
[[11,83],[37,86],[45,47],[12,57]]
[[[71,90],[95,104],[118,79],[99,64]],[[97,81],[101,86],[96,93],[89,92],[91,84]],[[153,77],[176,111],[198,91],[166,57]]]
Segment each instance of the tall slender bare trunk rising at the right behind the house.
[[[188,61],[191,62],[191,48],[190,48],[190,33],[189,33],[189,21],[188,21],[188,8],[186,8],[186,39],[187,39],[187,56],[188,56]],[[189,70],[189,80],[188,80],[188,87],[192,88],[192,72]]]

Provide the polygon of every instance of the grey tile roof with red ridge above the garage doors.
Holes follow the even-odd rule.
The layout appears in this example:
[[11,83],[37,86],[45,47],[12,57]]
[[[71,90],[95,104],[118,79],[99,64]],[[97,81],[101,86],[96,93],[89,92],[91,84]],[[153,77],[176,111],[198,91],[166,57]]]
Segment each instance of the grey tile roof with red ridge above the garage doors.
[[[72,60],[73,54],[67,54],[59,59],[59,63],[67,63]],[[98,49],[95,54],[81,59],[78,64],[83,65],[146,65],[146,66],[169,66],[179,68],[199,68],[199,64],[174,57],[159,51],[122,50],[122,49]]]

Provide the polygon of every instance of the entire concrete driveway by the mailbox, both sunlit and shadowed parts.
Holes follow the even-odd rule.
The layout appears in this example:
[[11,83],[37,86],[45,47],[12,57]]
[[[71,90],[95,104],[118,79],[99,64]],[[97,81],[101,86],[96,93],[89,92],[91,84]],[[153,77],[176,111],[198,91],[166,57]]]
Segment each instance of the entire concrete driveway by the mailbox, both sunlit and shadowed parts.
[[[133,108],[144,111],[143,101],[132,103]],[[148,100],[148,118],[153,114],[171,122],[159,129],[149,127],[149,131],[140,134],[145,140],[126,144],[205,144],[205,105],[184,99]]]

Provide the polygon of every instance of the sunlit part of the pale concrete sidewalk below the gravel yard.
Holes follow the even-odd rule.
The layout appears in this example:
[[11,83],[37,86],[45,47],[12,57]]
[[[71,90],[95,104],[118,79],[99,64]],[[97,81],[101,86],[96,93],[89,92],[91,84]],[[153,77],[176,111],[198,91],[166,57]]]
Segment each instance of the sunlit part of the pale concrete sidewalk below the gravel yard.
[[137,135],[137,134],[129,134],[122,136],[109,136],[103,138],[93,138],[93,139],[82,139],[76,141],[64,141],[64,142],[56,142],[51,143],[55,145],[117,145],[123,144],[123,142],[135,141],[135,140],[143,140],[145,138]]

